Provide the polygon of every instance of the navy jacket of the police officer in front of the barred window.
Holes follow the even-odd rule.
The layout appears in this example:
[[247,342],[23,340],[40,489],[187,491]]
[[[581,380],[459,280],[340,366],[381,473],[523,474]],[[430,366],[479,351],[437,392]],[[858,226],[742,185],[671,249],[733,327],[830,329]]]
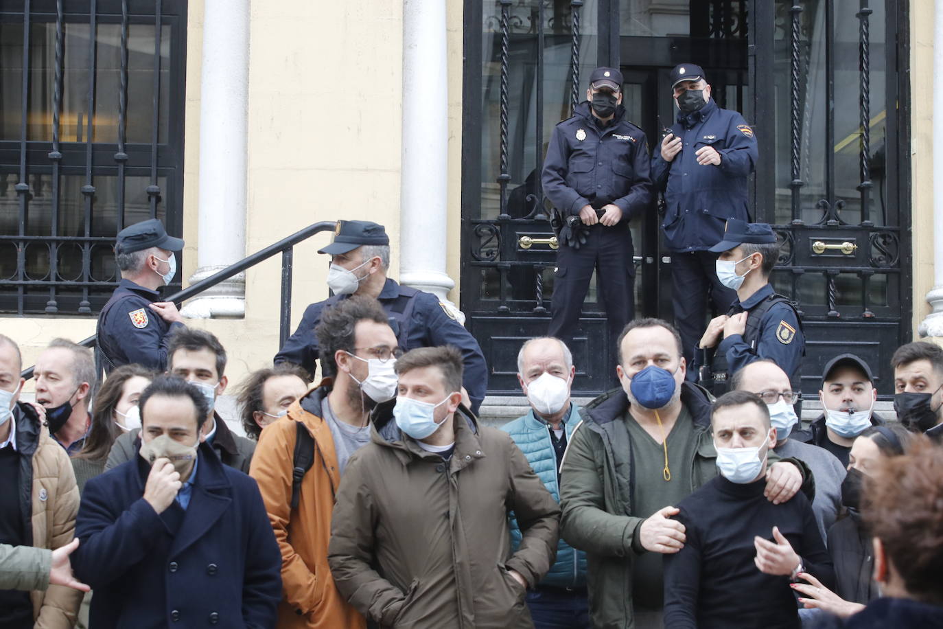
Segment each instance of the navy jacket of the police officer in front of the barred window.
[[170,332],[186,327],[167,323],[149,306],[161,301],[157,290],[123,279],[98,316],[98,345],[105,355],[105,371],[136,362],[163,372],[167,368]]

